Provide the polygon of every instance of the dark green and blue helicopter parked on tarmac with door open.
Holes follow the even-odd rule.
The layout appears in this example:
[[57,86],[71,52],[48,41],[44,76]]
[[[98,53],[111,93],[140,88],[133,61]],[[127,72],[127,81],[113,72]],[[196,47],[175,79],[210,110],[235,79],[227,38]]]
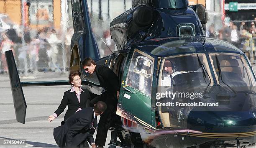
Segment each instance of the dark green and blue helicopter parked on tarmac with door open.
[[[118,50],[103,58],[91,29],[87,0],[72,0],[72,15],[69,70],[79,70],[84,88],[98,93],[102,88],[95,74],[85,73],[84,58],[90,56],[118,75],[116,114],[122,125],[110,129],[121,130],[125,140],[136,147],[155,148],[240,148],[255,143],[256,77],[251,63],[236,46],[205,37],[203,5],[188,5],[187,0],[133,0],[132,8],[110,23]],[[68,83],[20,83],[11,51],[5,55],[9,71],[14,71],[9,74],[16,118],[24,123],[21,86]],[[179,71],[172,87],[161,83],[166,61]]]

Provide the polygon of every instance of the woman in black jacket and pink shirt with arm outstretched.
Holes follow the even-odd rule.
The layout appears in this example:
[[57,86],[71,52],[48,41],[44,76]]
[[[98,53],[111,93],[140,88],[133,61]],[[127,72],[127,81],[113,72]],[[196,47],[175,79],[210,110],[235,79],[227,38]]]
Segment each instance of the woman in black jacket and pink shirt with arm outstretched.
[[61,125],[63,125],[71,115],[86,107],[87,99],[90,99],[91,95],[87,90],[83,90],[81,88],[80,76],[81,73],[79,71],[70,72],[69,83],[72,85],[72,88],[64,92],[61,104],[54,114],[48,117],[48,121],[51,122],[56,119],[56,117],[58,117],[68,106],[67,112],[64,116],[64,121],[61,122]]

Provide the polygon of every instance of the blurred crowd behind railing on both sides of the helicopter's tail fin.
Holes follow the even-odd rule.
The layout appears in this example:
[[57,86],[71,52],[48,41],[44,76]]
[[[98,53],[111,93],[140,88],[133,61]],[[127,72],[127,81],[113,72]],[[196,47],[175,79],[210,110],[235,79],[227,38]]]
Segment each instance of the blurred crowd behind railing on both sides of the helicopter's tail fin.
[[[92,29],[100,48],[100,56],[108,56],[116,50],[108,25],[102,28],[104,23],[95,18],[91,19]],[[23,28],[13,23],[8,15],[0,13],[0,74],[8,72],[4,54],[8,50],[13,51],[20,75],[68,71],[73,33],[73,26],[69,26],[65,32],[56,30],[54,27]]]

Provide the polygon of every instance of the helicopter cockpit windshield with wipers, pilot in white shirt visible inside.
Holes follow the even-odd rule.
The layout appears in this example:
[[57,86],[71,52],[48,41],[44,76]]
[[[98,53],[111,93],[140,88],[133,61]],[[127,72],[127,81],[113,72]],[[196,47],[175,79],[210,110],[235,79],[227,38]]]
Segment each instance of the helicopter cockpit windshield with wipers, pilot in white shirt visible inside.
[[[181,128],[184,112],[195,103],[215,102],[218,96],[229,96],[229,92],[249,93],[254,98],[256,92],[254,74],[245,56],[220,52],[164,58],[158,86],[156,106],[163,126],[168,128]],[[239,100],[237,95],[231,97]],[[166,105],[177,102],[181,105]]]

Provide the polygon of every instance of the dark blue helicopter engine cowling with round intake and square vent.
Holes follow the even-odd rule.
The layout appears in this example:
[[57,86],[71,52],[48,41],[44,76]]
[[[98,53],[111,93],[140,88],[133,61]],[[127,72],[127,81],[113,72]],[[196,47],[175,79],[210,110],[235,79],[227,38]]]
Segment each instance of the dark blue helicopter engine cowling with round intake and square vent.
[[118,50],[152,38],[205,35],[200,18],[192,8],[161,9],[149,5],[131,8],[116,17],[110,23],[110,33]]

